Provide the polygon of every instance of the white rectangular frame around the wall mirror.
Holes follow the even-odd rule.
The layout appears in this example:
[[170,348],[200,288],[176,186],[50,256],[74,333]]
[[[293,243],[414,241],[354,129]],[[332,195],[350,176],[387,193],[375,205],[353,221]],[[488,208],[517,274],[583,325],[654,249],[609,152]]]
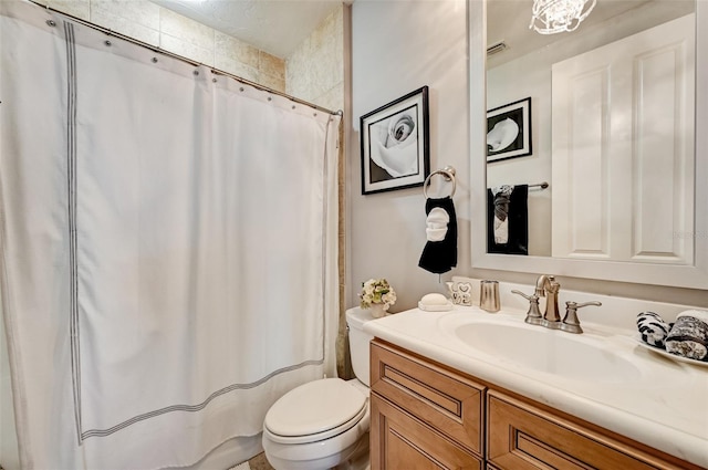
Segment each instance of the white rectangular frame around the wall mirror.
[[[487,0],[468,0],[470,222],[475,269],[548,273],[708,290],[708,2],[696,0],[696,192],[694,265],[522,257],[487,252]],[[479,104],[483,103],[482,106]]]

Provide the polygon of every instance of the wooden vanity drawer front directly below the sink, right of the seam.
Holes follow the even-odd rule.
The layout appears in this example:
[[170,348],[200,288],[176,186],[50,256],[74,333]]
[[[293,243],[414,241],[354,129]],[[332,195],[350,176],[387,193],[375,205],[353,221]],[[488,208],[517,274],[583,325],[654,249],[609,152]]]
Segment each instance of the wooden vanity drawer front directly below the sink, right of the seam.
[[497,390],[489,390],[487,400],[487,459],[501,470],[694,468],[675,466]]

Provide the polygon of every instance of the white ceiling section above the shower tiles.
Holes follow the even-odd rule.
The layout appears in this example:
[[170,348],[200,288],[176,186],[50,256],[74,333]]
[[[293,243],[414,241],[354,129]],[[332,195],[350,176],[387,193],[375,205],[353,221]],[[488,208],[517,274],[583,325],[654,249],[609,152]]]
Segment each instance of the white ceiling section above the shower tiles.
[[341,0],[152,0],[285,59]]

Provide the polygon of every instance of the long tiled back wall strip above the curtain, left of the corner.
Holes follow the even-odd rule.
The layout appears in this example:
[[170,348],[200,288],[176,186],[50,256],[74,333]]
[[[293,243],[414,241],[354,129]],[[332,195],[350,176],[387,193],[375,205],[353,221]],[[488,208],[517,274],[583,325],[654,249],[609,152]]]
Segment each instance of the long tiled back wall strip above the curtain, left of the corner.
[[147,0],[39,0],[117,33],[285,91],[285,61]]

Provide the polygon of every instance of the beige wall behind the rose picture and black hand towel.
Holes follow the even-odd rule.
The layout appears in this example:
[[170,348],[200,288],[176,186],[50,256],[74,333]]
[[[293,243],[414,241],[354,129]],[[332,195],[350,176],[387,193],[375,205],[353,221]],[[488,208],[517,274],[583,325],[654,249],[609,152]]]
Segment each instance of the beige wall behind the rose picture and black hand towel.
[[[369,278],[388,279],[398,294],[391,311],[399,312],[417,306],[426,293],[446,294],[444,281],[470,272],[467,67],[465,0],[352,4],[347,306],[358,303],[362,282]],[[458,175],[458,268],[441,278],[418,268],[426,243],[423,188],[361,191],[360,116],[424,85],[429,87],[430,169],[451,165]],[[434,187],[430,196],[438,189],[449,191]]]

